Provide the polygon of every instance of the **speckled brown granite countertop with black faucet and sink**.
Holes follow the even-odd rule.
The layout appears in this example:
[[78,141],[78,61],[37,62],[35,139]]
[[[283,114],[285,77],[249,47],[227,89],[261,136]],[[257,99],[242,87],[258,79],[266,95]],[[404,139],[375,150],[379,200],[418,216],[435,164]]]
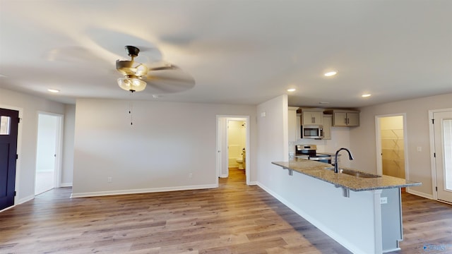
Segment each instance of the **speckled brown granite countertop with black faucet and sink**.
[[[290,174],[292,173],[291,170],[297,171],[301,174],[312,176],[321,181],[333,183],[335,186],[350,189],[351,191],[372,191],[385,188],[420,186],[422,184],[386,175],[376,178],[360,178],[357,176],[350,176],[348,174],[338,174],[334,173],[333,170],[325,169],[326,167],[332,167],[330,164],[301,158],[290,159],[289,162],[272,162],[272,164],[283,167],[283,169],[289,169]],[[340,168],[350,169],[345,167]],[[356,169],[352,170],[364,172]]]

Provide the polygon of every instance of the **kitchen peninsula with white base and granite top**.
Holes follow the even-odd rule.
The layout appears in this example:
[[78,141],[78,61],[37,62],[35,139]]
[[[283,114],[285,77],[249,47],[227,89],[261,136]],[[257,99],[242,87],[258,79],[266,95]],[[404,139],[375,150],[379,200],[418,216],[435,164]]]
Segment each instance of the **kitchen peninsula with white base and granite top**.
[[400,249],[400,188],[421,183],[360,171],[334,173],[330,164],[307,159],[272,164],[288,170],[284,184],[293,194],[280,199],[352,253]]

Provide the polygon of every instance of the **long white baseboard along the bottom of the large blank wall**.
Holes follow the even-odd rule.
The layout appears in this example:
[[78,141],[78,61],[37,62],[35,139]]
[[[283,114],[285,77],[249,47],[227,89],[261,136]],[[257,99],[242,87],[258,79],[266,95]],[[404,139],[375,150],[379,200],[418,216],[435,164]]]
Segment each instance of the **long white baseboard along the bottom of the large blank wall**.
[[164,191],[189,191],[189,190],[200,190],[206,188],[217,188],[215,184],[206,184],[201,186],[178,186],[178,187],[165,187],[165,188],[145,188],[145,189],[135,189],[135,190],[118,190],[118,191],[96,191],[91,193],[72,193],[71,198],[86,198],[86,197],[96,197],[104,195],[124,195],[124,194],[136,194],[136,193],[155,193]]

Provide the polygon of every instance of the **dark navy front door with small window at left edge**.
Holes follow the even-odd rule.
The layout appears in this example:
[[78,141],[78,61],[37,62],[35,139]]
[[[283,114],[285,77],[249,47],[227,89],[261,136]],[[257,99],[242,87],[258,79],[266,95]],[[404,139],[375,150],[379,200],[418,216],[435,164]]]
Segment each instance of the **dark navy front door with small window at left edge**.
[[0,109],[0,210],[14,205],[19,111]]

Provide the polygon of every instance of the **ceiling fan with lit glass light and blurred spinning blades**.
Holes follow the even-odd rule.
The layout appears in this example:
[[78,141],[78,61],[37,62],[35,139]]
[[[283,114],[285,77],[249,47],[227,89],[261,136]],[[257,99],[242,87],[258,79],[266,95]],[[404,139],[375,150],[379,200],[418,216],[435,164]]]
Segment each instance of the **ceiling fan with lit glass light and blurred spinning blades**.
[[123,75],[118,78],[118,85],[130,92],[145,90],[146,85],[153,87],[153,93],[182,92],[194,87],[194,79],[171,63],[162,63],[159,66],[148,67],[134,59],[140,53],[140,49],[134,46],[126,46],[126,53],[131,60],[117,60],[116,68]]

